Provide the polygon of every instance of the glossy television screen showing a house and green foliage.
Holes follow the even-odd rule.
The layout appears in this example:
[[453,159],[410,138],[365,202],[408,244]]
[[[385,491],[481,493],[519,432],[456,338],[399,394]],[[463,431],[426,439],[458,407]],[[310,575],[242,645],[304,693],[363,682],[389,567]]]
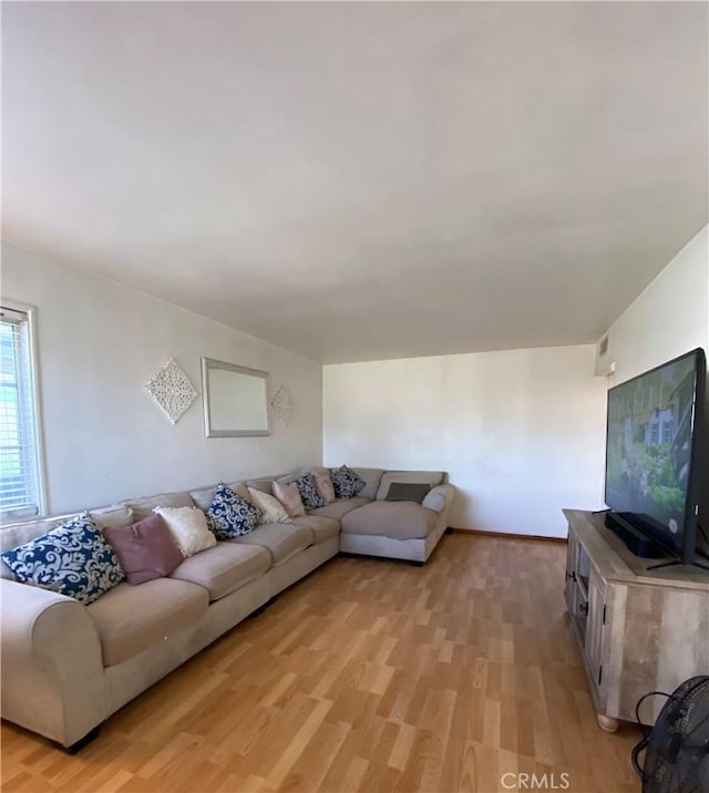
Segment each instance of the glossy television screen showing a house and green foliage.
[[696,350],[608,391],[606,504],[678,555],[693,511],[701,378],[703,354]]

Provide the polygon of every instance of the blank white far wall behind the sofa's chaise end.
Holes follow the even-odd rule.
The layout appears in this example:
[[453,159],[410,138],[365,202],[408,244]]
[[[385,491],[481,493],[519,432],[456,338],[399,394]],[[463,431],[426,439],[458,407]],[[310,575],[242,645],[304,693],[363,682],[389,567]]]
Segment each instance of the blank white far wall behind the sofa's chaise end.
[[566,536],[599,508],[604,378],[594,347],[323,367],[323,463],[445,470],[450,525]]

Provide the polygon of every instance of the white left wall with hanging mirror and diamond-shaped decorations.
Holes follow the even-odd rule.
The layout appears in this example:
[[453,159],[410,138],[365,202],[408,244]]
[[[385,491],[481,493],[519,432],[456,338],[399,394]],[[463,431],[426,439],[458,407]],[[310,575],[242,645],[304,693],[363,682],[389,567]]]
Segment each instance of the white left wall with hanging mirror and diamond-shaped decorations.
[[[320,462],[319,363],[6,244],[2,296],[38,307],[51,513]],[[172,425],[144,384],[175,357],[202,393],[202,356],[269,372],[269,399],[285,382],[289,426],[205,439],[202,396]]]

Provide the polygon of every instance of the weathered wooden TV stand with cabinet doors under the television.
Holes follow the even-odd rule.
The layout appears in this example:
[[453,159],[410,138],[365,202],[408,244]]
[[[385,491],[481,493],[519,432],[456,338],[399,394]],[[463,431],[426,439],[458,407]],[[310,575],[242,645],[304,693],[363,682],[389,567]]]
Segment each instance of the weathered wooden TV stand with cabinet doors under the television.
[[[579,641],[598,724],[615,732],[635,721],[650,691],[671,693],[709,671],[709,573],[634,556],[604,515],[564,509],[568,550],[564,598]],[[640,717],[653,724],[665,704],[650,698]]]

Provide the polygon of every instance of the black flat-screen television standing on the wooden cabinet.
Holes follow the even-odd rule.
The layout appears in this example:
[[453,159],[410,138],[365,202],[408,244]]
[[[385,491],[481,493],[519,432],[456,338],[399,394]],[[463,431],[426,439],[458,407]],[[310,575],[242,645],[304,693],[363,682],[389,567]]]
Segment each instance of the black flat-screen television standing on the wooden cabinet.
[[696,557],[700,487],[709,473],[706,379],[697,349],[608,391],[606,525],[637,556],[669,558],[655,567],[703,566]]

